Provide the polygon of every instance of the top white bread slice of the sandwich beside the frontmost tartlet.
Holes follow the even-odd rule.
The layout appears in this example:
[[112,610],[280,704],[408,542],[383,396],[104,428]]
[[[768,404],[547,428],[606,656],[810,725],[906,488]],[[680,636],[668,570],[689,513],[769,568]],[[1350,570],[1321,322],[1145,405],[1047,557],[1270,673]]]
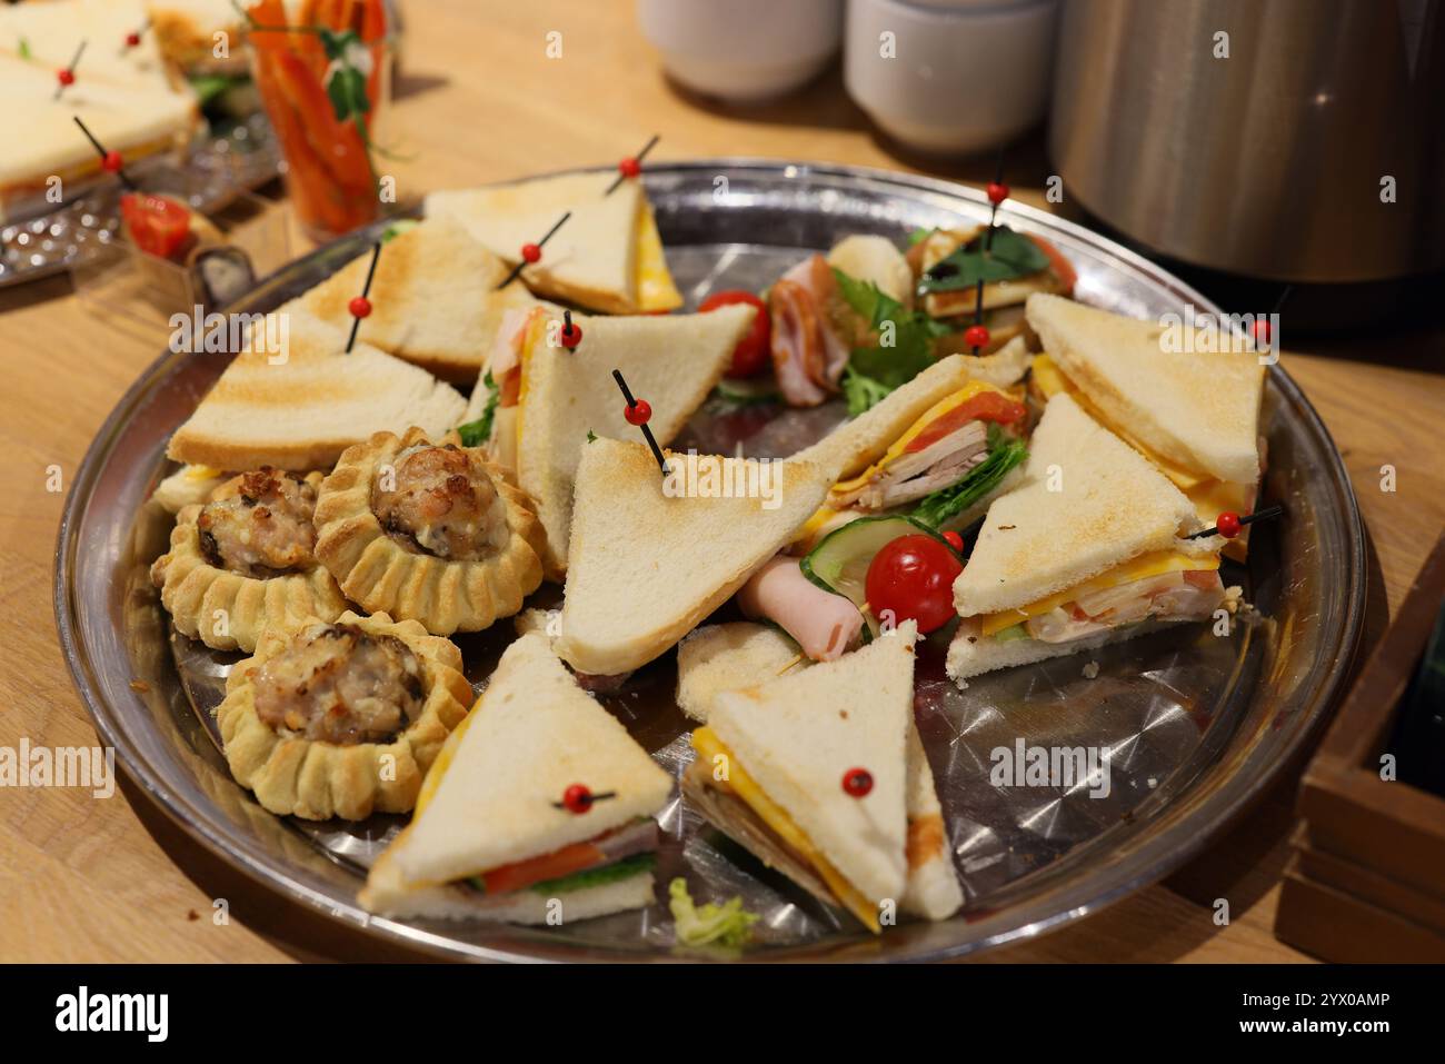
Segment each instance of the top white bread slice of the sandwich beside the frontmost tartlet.
[[[585,815],[558,808],[572,784],[613,798]],[[425,794],[390,849],[409,885],[474,876],[656,815],[672,776],[577,685],[543,636],[526,635],[501,655]]]

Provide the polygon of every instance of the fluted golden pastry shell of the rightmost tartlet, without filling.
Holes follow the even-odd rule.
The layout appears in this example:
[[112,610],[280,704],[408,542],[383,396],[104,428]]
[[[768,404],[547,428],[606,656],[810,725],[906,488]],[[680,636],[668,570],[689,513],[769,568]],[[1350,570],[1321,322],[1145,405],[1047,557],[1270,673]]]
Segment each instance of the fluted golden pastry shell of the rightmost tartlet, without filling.
[[418,620],[434,635],[480,632],[510,617],[542,583],[542,532],[530,500],[507,483],[503,470],[483,468],[506,503],[510,538],[499,554],[474,561],[448,561],[406,549],[371,512],[377,470],[407,447],[429,444],[419,428],[397,438],[377,432],[347,448],[316,497],[316,557],[331,570],[345,596],[363,609]]

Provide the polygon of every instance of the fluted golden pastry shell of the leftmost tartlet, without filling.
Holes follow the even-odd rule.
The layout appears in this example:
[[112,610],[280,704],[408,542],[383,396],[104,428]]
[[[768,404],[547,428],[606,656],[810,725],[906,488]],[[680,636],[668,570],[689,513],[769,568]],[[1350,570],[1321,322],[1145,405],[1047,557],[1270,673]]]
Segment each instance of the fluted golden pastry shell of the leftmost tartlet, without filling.
[[[321,474],[312,473],[306,480],[319,484]],[[267,626],[305,617],[329,622],[345,612],[347,600],[321,562],[266,580],[212,565],[201,552],[197,532],[201,509],[202,503],[182,507],[171,529],[171,549],[150,567],[160,604],[181,633],[214,651],[250,653]]]

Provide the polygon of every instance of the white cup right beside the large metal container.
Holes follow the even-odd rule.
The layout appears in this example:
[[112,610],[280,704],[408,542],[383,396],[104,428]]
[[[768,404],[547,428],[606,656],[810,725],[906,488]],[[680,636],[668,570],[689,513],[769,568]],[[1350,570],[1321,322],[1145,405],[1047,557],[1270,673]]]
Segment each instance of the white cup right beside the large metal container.
[[848,0],[848,95],[920,152],[1007,143],[1043,119],[1056,0]]

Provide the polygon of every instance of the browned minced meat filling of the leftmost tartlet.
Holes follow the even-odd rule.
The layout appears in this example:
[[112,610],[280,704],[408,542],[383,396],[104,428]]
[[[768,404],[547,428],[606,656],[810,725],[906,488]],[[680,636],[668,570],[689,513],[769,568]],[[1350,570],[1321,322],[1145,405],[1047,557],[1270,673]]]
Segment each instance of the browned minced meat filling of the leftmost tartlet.
[[201,507],[201,552],[217,568],[267,577],[314,562],[316,489],[263,466],[233,477]]

